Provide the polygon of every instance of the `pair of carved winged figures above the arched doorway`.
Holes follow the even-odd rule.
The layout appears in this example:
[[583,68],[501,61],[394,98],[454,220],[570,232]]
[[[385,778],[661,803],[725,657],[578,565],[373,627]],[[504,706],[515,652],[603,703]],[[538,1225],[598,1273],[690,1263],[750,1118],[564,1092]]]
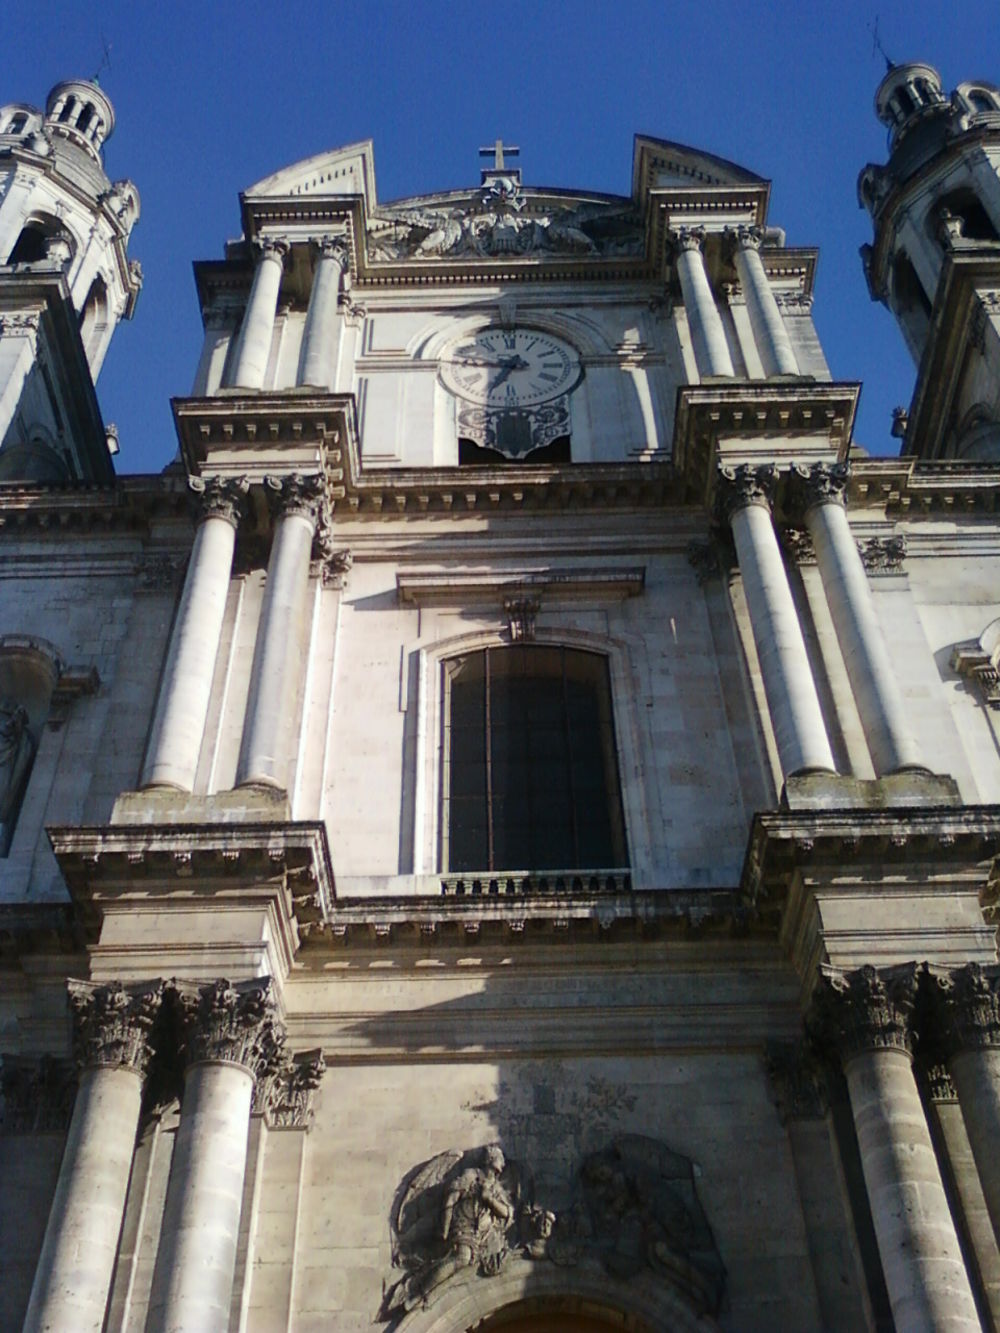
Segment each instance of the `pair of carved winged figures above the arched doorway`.
[[591,1258],[619,1281],[651,1272],[699,1313],[723,1296],[691,1161],[641,1134],[584,1157],[559,1212],[536,1201],[531,1173],[499,1144],[439,1153],[403,1180],[389,1222],[392,1262],[405,1274],[385,1293],[383,1321],[428,1304],[456,1274],[492,1277],[513,1257]]

